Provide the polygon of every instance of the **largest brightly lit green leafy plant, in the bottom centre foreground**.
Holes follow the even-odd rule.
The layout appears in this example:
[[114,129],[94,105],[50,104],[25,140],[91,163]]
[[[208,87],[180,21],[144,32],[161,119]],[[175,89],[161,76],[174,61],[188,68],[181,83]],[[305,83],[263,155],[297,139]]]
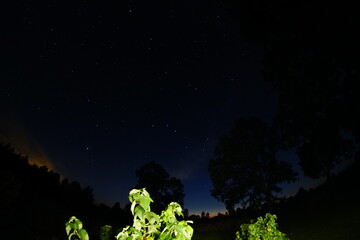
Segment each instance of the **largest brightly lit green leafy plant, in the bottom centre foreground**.
[[178,221],[176,215],[183,216],[181,206],[172,202],[166,210],[157,215],[150,210],[153,200],[145,188],[130,191],[131,212],[134,216],[132,227],[125,227],[117,236],[117,240],[190,240],[193,229],[188,223]]

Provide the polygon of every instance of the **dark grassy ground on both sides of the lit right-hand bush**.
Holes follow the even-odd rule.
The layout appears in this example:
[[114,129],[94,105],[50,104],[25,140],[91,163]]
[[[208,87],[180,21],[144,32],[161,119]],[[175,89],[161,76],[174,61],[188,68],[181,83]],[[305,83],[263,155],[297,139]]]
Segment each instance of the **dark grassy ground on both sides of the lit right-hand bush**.
[[[223,219],[194,225],[193,240],[234,240],[239,226],[249,219]],[[338,206],[278,216],[278,229],[291,240],[360,239],[360,207]]]

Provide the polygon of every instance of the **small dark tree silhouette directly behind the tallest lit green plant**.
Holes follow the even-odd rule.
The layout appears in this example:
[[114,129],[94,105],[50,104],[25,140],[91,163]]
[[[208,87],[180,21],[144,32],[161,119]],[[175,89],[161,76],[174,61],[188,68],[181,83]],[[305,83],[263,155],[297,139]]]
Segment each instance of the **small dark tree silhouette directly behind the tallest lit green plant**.
[[184,186],[175,177],[159,164],[149,162],[136,170],[138,179],[136,188],[146,188],[154,202],[151,205],[152,211],[160,213],[171,202],[177,202],[184,206]]

